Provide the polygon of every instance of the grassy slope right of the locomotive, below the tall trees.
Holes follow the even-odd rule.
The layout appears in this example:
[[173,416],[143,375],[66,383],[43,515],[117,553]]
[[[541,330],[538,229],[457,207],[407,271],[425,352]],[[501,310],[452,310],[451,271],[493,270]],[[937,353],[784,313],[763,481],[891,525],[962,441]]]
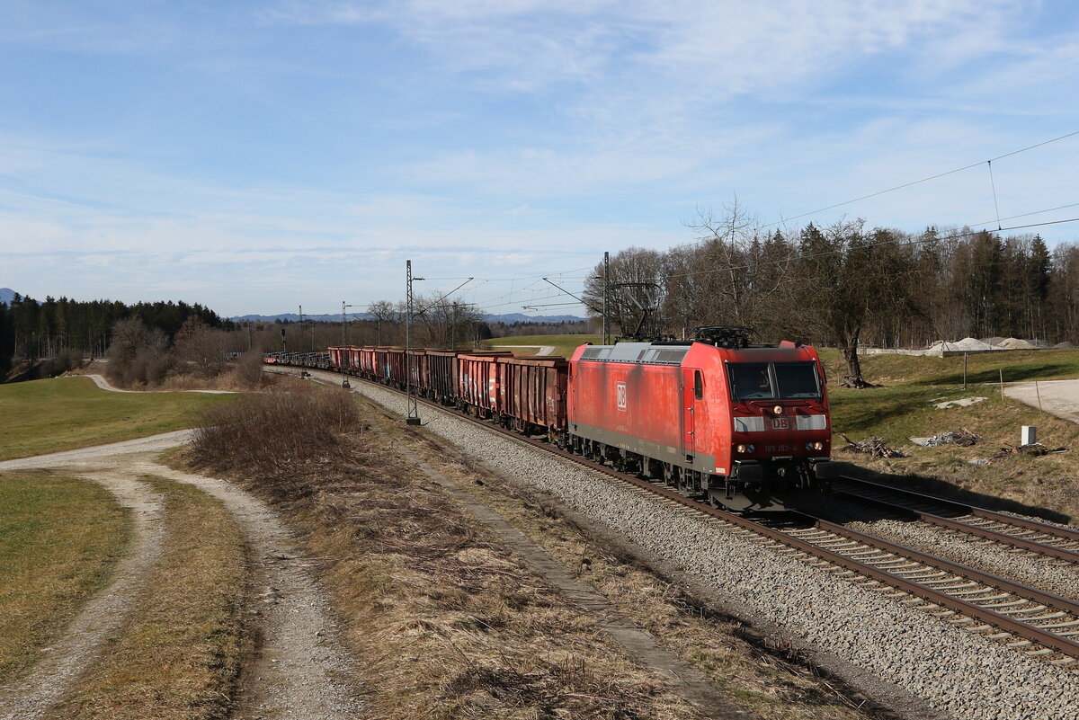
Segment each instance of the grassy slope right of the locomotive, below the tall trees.
[[[836,459],[898,476],[933,491],[972,494],[983,504],[1035,512],[1054,520],[1079,517],[1079,425],[1000,397],[1000,374],[1009,382],[1079,377],[1079,350],[1029,350],[969,356],[967,389],[962,358],[871,356],[862,360],[865,379],[880,387],[839,388],[845,365],[835,350],[823,350],[832,406]],[[940,410],[935,403],[960,398],[986,400],[968,407]],[[1043,457],[1002,454],[1020,442],[1020,427],[1038,427],[1039,441],[1068,452]],[[970,447],[921,447],[910,438],[966,428],[982,437]],[[859,441],[884,438],[907,457],[872,459],[842,449],[842,434]],[[972,461],[985,465],[972,465]],[[1002,498],[1003,502],[997,502]],[[1042,511],[1049,511],[1042,512]],[[1057,513],[1057,515],[1053,515]]]

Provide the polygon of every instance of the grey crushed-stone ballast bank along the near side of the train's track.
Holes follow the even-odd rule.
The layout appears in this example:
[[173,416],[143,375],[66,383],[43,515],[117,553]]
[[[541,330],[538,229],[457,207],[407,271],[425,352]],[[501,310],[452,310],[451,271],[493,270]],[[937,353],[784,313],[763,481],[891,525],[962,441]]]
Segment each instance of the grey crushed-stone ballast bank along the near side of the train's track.
[[[975,341],[980,342],[980,341]],[[405,400],[357,384],[404,414]],[[560,498],[631,542],[786,627],[955,717],[1044,720],[1076,717],[1079,673],[1009,650],[940,620],[763,550],[573,462],[492,435],[424,407],[426,428],[488,466]]]

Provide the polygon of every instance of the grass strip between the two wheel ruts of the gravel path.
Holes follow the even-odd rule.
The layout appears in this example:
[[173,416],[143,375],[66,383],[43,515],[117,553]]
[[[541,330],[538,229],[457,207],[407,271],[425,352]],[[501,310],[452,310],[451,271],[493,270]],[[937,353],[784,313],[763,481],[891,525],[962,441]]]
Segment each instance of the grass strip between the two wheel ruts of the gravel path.
[[244,651],[248,574],[224,507],[180,483],[165,495],[165,544],[126,626],[51,718],[209,720],[228,717]]

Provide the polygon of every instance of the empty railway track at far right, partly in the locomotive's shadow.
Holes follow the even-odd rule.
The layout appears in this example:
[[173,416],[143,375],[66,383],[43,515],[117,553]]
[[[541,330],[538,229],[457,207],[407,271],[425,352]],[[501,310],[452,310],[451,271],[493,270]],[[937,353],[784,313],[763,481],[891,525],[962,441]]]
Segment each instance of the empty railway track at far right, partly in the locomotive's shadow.
[[1079,530],[1074,528],[1015,517],[856,477],[844,476],[834,481],[832,491],[839,497],[870,503],[950,530],[1066,563],[1079,563]]

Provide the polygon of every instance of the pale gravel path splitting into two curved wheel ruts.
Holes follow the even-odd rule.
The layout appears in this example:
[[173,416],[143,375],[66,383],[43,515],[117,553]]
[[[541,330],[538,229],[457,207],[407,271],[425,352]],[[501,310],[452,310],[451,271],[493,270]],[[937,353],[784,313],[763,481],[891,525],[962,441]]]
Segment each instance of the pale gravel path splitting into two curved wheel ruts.
[[255,496],[221,480],[177,472],[153,454],[183,444],[189,431],[0,462],[0,471],[50,468],[100,483],[135,513],[136,540],[120,562],[115,580],[90,600],[47,657],[16,686],[0,689],[0,720],[40,717],[73,687],[103,643],[121,627],[132,598],[160,554],[161,500],[138,481],[154,474],[190,483],[221,500],[240,524],[267,585],[259,612],[264,638],[259,657],[245,674],[238,720],[345,720],[361,709],[343,682],[350,659],[319,585],[305,569],[284,522]]

